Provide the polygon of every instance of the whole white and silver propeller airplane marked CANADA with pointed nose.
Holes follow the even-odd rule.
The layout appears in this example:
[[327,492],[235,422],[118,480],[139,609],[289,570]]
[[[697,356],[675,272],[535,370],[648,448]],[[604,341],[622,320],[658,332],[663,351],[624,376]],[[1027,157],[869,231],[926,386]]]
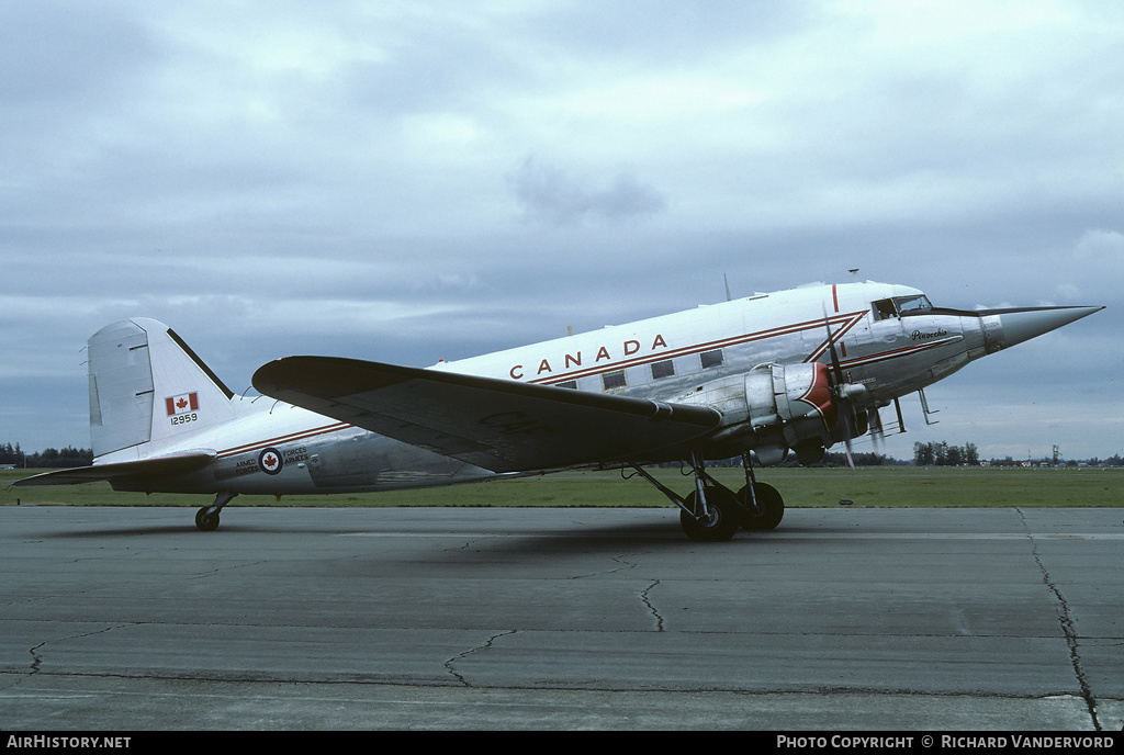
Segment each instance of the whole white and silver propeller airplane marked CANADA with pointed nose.
[[[239,493],[631,467],[679,507],[688,537],[725,540],[783,516],[755,464],[814,463],[837,443],[850,454],[891,404],[904,431],[899,397],[1099,309],[967,311],[903,285],[816,284],[427,370],[292,356],[254,374],[277,401],[236,397],[167,326],[121,320],[89,342],[93,465],[16,484],[216,494],[196,515],[212,530]],[[735,492],[706,463],[736,456]],[[694,473],[686,498],[644,469],[676,461]]]

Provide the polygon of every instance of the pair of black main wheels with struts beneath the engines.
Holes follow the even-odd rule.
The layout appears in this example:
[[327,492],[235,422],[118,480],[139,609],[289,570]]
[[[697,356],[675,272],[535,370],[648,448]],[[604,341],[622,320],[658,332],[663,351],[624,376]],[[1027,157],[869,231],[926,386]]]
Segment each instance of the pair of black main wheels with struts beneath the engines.
[[633,469],[655,485],[679,507],[679,524],[692,540],[718,543],[728,540],[738,527],[749,530],[776,529],[785,516],[785,500],[772,485],[758,482],[749,453],[742,454],[745,485],[736,493],[720,484],[706,471],[701,454],[691,452],[695,491],[686,499],[653,477],[643,467]]

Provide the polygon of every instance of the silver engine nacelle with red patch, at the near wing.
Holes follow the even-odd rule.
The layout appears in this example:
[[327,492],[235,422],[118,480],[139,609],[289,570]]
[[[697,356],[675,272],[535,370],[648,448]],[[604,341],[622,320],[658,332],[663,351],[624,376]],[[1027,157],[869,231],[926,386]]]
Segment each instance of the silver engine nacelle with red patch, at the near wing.
[[839,416],[827,365],[819,362],[762,364],[705,383],[674,402],[722,412],[722,427],[707,439],[711,458],[752,449],[761,464],[776,464],[792,448],[801,463],[812,463],[836,439]]

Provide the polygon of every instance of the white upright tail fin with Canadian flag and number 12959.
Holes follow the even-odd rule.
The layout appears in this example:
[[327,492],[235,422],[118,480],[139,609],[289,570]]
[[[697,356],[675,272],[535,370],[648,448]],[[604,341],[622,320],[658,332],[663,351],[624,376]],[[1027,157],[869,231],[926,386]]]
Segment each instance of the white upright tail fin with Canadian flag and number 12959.
[[187,448],[199,430],[234,418],[230,390],[156,320],[106,326],[90,337],[89,365],[94,457],[134,447],[136,458]]

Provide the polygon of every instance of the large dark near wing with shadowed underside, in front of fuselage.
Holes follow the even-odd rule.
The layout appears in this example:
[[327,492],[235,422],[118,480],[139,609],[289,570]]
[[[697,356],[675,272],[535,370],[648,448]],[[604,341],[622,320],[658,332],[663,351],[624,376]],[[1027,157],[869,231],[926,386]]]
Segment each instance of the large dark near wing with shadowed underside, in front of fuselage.
[[254,388],[493,472],[638,460],[715,428],[708,407],[321,356],[263,365]]

